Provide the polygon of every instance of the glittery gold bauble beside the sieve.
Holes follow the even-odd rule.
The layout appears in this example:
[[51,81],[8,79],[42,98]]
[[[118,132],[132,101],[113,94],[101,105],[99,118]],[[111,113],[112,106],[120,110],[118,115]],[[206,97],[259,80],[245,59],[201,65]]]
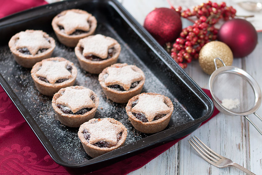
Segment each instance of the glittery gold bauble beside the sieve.
[[[205,44],[199,52],[199,65],[203,71],[211,75],[215,71],[214,58],[221,58],[227,66],[233,63],[233,53],[227,44],[220,41],[211,41]],[[216,60],[217,68],[223,66]]]

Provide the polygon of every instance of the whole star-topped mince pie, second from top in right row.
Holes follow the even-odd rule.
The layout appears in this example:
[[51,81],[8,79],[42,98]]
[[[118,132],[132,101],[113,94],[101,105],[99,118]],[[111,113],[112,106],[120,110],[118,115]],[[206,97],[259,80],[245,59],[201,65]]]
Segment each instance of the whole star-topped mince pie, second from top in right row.
[[116,63],[120,51],[121,46],[116,40],[100,34],[79,40],[75,48],[80,66],[95,74]]

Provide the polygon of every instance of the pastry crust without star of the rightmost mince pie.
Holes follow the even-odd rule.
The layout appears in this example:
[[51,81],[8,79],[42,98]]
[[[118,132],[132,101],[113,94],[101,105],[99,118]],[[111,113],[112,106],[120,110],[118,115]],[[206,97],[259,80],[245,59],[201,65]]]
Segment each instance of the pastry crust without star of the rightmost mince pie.
[[[156,94],[156,93],[142,93],[142,94],[161,95],[161,94]],[[151,122],[142,122],[141,120],[137,119],[131,112],[132,103],[134,101],[136,101],[140,95],[141,94],[136,95],[133,98],[131,98],[128,101],[126,107],[125,107],[128,118],[129,118],[131,124],[133,125],[133,127],[136,128],[137,131],[140,131],[140,132],[143,132],[143,133],[156,133],[156,132],[160,132],[163,129],[165,129],[167,127],[170,119],[171,119],[171,115],[172,115],[173,110],[174,110],[174,106],[173,106],[173,103],[171,102],[170,98],[165,96],[165,101],[164,101],[164,103],[166,103],[166,105],[168,107],[170,107],[170,109],[171,109],[169,113],[167,113],[161,119],[151,121]]]

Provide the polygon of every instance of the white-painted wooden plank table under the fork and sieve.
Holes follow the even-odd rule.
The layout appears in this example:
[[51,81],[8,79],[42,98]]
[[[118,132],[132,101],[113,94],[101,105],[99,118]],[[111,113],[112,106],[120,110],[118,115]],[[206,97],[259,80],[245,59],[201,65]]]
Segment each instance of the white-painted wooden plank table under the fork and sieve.
[[[55,1],[57,0],[47,0],[49,3]],[[155,7],[170,7],[166,0],[119,0],[119,2],[141,25],[144,23],[145,16]],[[199,0],[199,4],[202,2],[205,1]],[[182,23],[183,26],[187,26],[185,20]],[[262,55],[262,33],[259,33],[258,36],[258,44],[255,50],[247,57],[234,59],[233,66],[246,70],[262,87],[262,58],[260,58]],[[202,71],[197,60],[192,61],[185,71],[201,88],[209,89],[209,75]],[[262,115],[262,107],[257,110],[257,114]],[[259,119],[254,115],[250,115],[250,119],[262,129],[262,123]],[[207,163],[188,143],[188,140],[194,135],[222,156],[230,158],[257,175],[262,174],[262,136],[244,117],[219,113],[166,152],[151,160],[142,168],[131,172],[130,175],[245,174],[235,168],[219,169]]]

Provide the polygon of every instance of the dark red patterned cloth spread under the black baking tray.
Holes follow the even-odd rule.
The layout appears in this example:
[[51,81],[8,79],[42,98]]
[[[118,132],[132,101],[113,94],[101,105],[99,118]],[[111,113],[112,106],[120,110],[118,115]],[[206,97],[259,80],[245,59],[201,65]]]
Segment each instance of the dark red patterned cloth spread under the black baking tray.
[[[20,10],[43,4],[46,4],[43,0],[4,0],[0,6],[0,18]],[[211,97],[209,90],[204,91]],[[218,112],[219,111],[215,109],[213,115],[208,120],[218,114]],[[183,138],[173,140],[88,174],[130,173],[141,168]],[[63,166],[56,164],[54,160],[51,159],[1,86],[0,145],[0,174],[72,174],[68,173]]]

